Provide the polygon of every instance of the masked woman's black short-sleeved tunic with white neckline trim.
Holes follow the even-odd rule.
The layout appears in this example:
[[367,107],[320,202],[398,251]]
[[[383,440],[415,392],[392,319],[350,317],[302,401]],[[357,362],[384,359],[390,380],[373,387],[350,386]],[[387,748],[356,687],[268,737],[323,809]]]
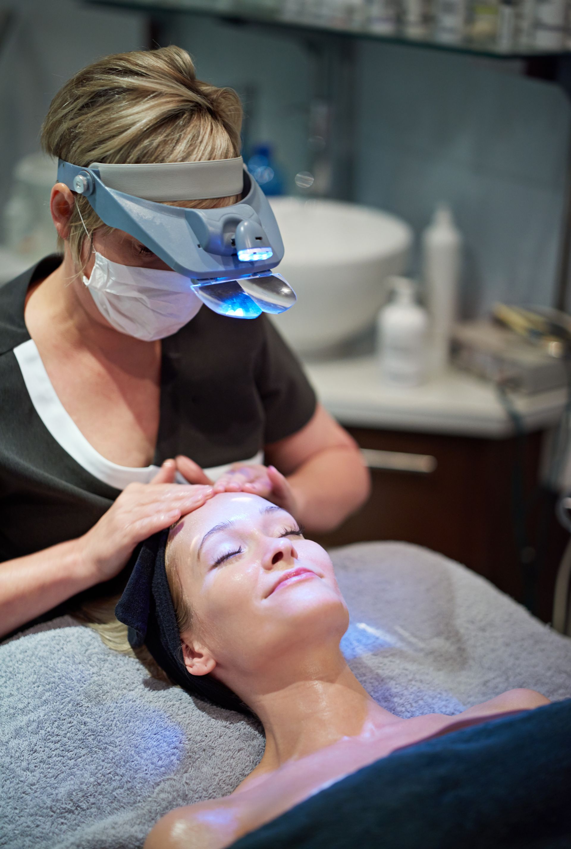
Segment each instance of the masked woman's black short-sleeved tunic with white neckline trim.
[[[48,256],[0,288],[0,561],[81,536],[120,492],[51,436],[14,355],[30,340],[26,291],[60,261]],[[154,463],[178,453],[206,469],[252,458],[300,430],[314,407],[297,358],[268,318],[225,318],[203,306],[162,343]]]

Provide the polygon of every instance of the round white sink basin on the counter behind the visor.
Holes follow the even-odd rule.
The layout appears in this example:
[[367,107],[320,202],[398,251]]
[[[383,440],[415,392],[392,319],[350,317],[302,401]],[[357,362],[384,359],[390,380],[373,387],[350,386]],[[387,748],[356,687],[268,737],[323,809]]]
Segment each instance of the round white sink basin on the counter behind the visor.
[[272,316],[302,354],[325,352],[369,327],[385,278],[404,271],[412,231],[396,216],[338,200],[270,200],[284,239],[277,267],[297,295]]

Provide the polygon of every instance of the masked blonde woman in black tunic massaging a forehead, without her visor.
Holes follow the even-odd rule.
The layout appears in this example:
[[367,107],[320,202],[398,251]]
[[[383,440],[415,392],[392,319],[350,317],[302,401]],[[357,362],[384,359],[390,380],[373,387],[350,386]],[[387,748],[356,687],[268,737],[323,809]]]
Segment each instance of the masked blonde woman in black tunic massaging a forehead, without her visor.
[[[42,144],[82,168],[236,160],[240,121],[236,94],[198,81],[189,54],[169,47],[77,73]],[[172,200],[173,182],[155,200],[240,200],[220,179]],[[0,635],[117,576],[139,542],[210,498],[212,481],[318,532],[369,486],[269,318],[212,312],[65,183],[50,208],[63,256],[0,289]]]

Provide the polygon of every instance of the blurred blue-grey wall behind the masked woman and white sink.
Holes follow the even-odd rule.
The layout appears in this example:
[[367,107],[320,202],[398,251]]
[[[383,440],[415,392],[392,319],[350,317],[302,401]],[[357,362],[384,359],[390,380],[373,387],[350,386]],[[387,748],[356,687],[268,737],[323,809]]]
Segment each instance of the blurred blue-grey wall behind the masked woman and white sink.
[[[161,43],[187,48],[199,76],[237,88],[246,143],[273,144],[285,190],[295,193],[293,177],[310,157],[314,94],[302,40],[184,14],[165,21]],[[20,0],[0,53],[0,205],[15,162],[38,149],[65,79],[98,56],[148,43],[144,14]],[[571,129],[563,91],[522,76],[512,61],[366,41],[355,51],[353,200],[397,213],[416,233],[439,200],[449,201],[466,239],[464,317],[498,300],[550,304]]]

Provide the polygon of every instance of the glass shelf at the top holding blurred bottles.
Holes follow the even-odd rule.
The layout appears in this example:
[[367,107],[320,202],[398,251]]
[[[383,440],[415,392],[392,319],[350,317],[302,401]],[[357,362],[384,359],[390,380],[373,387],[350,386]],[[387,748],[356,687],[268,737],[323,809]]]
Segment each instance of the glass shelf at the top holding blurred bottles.
[[270,24],[284,29],[305,31],[306,33],[328,33],[359,38],[373,39],[379,42],[409,45],[421,48],[434,48],[452,53],[467,53],[474,56],[486,56],[494,59],[533,59],[538,57],[557,57],[571,55],[571,50],[523,47],[500,48],[495,42],[448,42],[437,37],[413,38],[402,31],[378,32],[363,21],[351,20],[347,14],[339,20],[310,20],[306,17],[288,14],[291,8],[287,2],[276,0],[88,0],[99,6],[132,8],[153,14],[167,12],[189,12],[207,15],[213,18],[241,20],[249,23]]

